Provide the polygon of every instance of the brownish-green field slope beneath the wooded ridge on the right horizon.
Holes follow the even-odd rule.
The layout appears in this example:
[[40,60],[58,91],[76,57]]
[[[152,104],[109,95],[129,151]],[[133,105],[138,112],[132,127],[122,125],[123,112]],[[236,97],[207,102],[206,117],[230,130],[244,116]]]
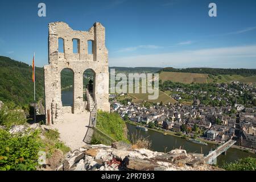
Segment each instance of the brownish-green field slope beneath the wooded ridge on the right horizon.
[[190,84],[192,82],[197,83],[229,83],[233,81],[240,81],[245,83],[256,83],[256,76],[245,77],[242,75],[209,75],[205,73],[186,73],[186,72],[160,72],[160,80],[162,81],[174,81]]

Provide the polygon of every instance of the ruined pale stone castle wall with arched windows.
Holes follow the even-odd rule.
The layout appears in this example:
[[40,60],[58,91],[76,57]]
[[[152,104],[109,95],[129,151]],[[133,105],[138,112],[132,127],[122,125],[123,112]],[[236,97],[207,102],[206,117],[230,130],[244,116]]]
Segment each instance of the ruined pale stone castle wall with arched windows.
[[[79,114],[85,110],[83,100],[83,73],[94,73],[93,98],[97,109],[109,111],[108,49],[105,47],[105,27],[94,23],[89,31],[72,30],[64,22],[49,23],[49,65],[44,66],[44,90],[46,121],[63,121],[64,113]],[[59,39],[63,40],[63,52],[59,51]],[[73,53],[73,39],[77,40],[77,53]],[[88,41],[92,41],[92,54],[88,53]],[[60,73],[64,68],[73,71],[73,106],[61,102]]]

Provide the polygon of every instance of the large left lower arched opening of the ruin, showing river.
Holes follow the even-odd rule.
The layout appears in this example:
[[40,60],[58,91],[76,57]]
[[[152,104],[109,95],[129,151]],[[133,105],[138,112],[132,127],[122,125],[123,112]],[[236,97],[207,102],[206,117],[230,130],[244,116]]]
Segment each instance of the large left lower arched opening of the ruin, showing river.
[[61,101],[63,106],[73,106],[74,103],[74,72],[64,68],[60,73]]

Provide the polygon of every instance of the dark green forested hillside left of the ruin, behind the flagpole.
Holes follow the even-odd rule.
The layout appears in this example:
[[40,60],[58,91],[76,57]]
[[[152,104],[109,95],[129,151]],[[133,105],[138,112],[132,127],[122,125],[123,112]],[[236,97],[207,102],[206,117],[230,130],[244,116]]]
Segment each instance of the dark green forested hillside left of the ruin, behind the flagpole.
[[[32,62],[32,61],[31,61]],[[36,67],[36,100],[43,98],[43,68]],[[34,101],[32,67],[26,63],[0,56],[0,100],[26,105]]]

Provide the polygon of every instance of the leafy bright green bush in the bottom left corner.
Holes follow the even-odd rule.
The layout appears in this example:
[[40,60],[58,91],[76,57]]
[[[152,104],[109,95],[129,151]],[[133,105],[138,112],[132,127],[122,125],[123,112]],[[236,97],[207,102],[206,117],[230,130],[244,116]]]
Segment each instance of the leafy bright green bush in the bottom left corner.
[[38,166],[38,152],[42,147],[39,131],[26,135],[11,135],[0,129],[0,170],[35,170]]

